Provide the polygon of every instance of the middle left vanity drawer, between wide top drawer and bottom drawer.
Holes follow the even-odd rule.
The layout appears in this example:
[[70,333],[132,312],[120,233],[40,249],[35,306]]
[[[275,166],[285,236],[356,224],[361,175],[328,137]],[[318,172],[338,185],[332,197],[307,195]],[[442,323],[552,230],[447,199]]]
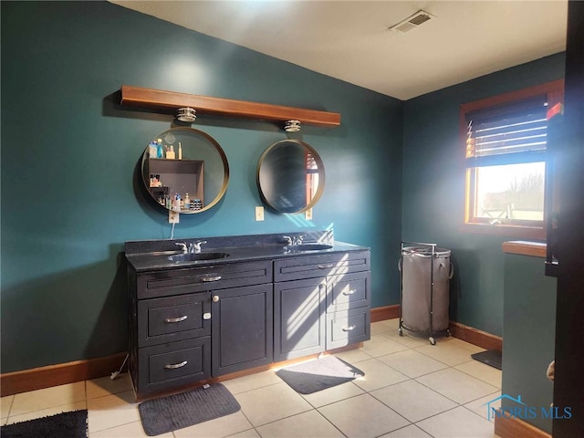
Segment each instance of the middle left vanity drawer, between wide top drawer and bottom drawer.
[[211,334],[211,293],[138,301],[138,346]]

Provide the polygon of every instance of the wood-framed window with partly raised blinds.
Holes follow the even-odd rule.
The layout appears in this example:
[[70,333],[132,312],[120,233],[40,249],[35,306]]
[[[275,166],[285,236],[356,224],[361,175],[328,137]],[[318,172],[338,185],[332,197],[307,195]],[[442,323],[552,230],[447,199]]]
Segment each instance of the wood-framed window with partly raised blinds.
[[[559,81],[461,106],[465,224],[543,231],[547,104]],[[561,91],[561,90],[560,90]]]

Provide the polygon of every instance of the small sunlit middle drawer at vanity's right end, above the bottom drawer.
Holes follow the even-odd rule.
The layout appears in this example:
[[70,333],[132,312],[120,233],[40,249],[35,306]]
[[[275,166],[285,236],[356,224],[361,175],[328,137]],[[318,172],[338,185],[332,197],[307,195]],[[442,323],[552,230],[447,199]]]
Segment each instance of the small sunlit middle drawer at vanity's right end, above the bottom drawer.
[[370,305],[370,272],[327,278],[327,312]]

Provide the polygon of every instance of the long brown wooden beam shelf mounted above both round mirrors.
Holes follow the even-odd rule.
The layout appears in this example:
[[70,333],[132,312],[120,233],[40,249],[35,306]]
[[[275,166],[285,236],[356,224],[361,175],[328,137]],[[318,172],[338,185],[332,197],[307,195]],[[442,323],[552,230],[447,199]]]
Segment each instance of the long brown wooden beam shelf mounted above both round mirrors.
[[304,110],[267,103],[247,102],[245,100],[209,98],[207,96],[175,93],[160,89],[142,89],[128,85],[121,87],[121,105],[162,110],[165,113],[174,114],[179,108],[190,107],[197,111],[197,116],[212,114],[279,122],[298,120],[300,123],[307,125],[324,127],[340,125],[340,114],[338,112]]

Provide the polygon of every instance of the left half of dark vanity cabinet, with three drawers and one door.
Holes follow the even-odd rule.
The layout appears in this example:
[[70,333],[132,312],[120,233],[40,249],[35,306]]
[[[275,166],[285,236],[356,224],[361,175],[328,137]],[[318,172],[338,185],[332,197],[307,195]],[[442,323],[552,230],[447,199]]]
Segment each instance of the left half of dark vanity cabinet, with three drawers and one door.
[[139,397],[273,360],[271,260],[130,268],[128,279],[130,375]]

